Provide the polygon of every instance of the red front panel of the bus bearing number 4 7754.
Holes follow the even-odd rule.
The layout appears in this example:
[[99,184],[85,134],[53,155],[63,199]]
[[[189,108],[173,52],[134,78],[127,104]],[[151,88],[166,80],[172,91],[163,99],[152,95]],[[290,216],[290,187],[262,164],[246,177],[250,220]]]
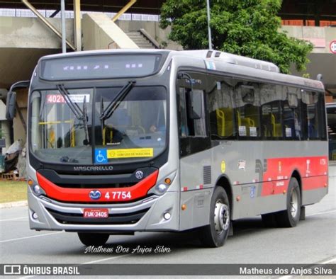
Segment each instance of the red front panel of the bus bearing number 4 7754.
[[[36,172],[38,184],[45,190],[48,198],[65,202],[127,202],[145,197],[148,190],[157,183],[159,171],[151,173],[142,181],[128,188],[62,188]],[[99,192],[98,192],[99,191]],[[94,192],[91,193],[90,192]],[[91,197],[94,198],[91,198]],[[98,198],[99,197],[99,198]]]

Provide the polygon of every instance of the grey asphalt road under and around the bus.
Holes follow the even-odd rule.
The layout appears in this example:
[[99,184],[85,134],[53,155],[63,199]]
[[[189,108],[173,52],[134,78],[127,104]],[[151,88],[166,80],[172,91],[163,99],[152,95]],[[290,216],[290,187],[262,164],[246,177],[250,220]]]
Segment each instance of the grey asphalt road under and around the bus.
[[[306,220],[291,229],[269,229],[261,218],[235,222],[225,246],[206,249],[196,234],[136,233],[111,236],[108,253],[85,253],[77,234],[35,232],[28,227],[27,207],[0,210],[0,263],[336,263],[336,176],[330,193],[306,207]],[[163,246],[170,253],[122,254],[133,249]]]

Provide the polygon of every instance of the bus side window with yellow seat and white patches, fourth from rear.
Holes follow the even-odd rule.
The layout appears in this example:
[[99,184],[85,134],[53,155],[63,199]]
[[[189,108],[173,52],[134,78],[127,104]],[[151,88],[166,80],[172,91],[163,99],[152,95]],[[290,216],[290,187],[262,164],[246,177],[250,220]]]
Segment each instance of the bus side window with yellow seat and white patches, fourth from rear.
[[240,139],[252,139],[261,136],[259,96],[259,84],[237,80],[235,106]]

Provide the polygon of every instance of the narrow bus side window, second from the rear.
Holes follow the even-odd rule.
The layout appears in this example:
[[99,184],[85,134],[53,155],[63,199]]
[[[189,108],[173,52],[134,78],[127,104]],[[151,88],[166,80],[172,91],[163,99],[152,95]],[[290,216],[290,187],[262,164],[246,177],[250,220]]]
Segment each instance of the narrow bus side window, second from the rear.
[[284,89],[287,91],[283,102],[285,139],[301,140],[301,91],[290,86],[284,86]]

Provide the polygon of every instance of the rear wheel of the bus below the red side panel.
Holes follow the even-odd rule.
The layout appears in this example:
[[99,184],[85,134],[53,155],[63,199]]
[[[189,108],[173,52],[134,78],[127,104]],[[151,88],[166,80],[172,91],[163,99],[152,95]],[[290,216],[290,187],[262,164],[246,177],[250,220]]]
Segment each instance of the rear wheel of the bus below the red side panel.
[[296,178],[291,178],[287,190],[286,210],[276,213],[276,223],[279,227],[296,227],[300,219],[301,194]]

